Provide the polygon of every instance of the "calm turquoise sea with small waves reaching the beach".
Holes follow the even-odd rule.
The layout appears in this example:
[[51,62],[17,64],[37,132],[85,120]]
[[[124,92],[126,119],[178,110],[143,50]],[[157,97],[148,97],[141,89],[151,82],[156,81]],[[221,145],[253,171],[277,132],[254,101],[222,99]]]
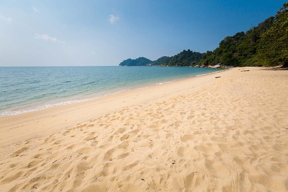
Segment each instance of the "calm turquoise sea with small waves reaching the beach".
[[0,67],[0,117],[221,70],[156,66]]

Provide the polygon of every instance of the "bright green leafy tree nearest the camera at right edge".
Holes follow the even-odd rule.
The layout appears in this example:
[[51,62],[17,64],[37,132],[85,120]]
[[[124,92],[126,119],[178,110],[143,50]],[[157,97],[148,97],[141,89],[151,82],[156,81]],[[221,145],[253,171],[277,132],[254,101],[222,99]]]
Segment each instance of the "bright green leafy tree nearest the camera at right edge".
[[283,4],[271,28],[262,34],[254,61],[263,66],[288,66],[288,3]]

